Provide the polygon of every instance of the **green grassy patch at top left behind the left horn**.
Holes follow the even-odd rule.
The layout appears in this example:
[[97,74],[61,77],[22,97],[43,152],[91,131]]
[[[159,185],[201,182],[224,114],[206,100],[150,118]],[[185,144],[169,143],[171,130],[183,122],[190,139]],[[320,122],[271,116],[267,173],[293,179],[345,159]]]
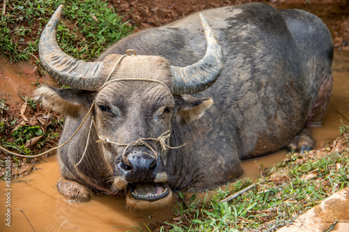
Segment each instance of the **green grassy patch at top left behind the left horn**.
[[37,54],[40,33],[61,4],[65,8],[57,26],[57,41],[77,59],[96,58],[133,29],[101,0],[13,0],[7,4],[8,12],[1,14],[0,20],[0,53],[11,61]]

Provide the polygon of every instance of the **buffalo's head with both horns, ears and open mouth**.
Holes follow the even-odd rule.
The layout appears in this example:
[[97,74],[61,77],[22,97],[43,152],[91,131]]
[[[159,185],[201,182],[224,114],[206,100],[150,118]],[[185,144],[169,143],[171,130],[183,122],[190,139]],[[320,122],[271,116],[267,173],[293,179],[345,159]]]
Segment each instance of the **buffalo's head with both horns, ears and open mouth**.
[[[80,124],[92,109],[87,118],[91,123],[85,123],[64,148],[75,152],[59,151],[62,175],[92,189],[98,190],[99,186],[126,192],[128,206],[135,208],[168,203],[172,199],[167,164],[172,125],[202,116],[213,101],[188,94],[214,84],[223,68],[221,46],[213,31],[201,15],[207,52],[200,61],[186,67],[171,65],[161,56],[109,54],[103,60],[86,62],[68,56],[57,45],[61,9],[43,30],[39,52],[47,72],[71,89],[41,87],[36,95],[46,107],[68,116],[66,134],[72,134],[76,122]],[[91,139],[86,139],[87,134]],[[82,164],[66,164],[77,164],[85,147],[87,156]],[[107,184],[98,181],[101,179],[107,179]]]

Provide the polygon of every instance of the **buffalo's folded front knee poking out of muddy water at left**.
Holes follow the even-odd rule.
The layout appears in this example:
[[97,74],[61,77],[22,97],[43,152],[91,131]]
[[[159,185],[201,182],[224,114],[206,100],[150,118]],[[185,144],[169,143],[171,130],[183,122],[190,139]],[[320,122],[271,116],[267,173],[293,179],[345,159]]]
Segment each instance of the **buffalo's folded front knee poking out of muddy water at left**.
[[84,202],[91,199],[91,192],[87,187],[73,180],[60,178],[57,182],[57,189],[69,201]]

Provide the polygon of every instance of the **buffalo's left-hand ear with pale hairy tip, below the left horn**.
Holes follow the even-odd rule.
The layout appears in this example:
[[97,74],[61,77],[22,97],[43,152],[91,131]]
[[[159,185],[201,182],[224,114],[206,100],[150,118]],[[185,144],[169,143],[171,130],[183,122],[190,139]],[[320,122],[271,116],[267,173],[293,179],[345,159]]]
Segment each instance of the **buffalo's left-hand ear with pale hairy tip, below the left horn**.
[[43,107],[76,118],[87,114],[94,99],[94,92],[42,86],[34,91],[34,99],[40,100]]

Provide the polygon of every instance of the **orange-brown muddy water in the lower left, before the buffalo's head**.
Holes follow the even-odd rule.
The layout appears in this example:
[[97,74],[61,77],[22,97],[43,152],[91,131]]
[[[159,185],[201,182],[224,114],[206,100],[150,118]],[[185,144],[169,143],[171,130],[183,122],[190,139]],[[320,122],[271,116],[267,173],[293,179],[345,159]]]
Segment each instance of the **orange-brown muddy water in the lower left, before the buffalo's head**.
[[[134,212],[112,196],[95,196],[87,203],[66,201],[57,191],[59,176],[57,157],[51,157],[36,165],[29,176],[12,180],[10,190],[1,181],[0,231],[34,231],[31,226],[35,231],[138,231],[149,217],[163,220],[172,215],[172,208]],[[5,191],[10,192],[10,227],[3,220],[8,208]]]

